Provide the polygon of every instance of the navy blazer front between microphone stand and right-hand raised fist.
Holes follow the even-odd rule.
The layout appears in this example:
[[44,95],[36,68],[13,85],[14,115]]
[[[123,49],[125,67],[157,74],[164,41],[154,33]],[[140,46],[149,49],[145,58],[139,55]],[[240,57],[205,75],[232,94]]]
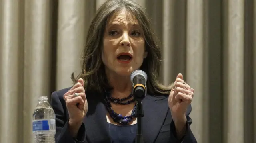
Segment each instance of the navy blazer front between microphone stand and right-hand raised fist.
[[145,143],[156,139],[168,111],[168,98],[147,95],[142,100],[144,117],[142,117],[142,135]]

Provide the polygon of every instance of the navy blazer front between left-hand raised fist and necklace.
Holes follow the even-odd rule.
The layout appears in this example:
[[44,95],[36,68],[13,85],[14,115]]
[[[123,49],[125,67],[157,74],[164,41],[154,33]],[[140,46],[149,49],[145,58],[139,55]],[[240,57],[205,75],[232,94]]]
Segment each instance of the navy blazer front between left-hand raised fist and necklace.
[[111,143],[106,121],[106,109],[103,98],[95,95],[88,96],[88,112],[84,118],[86,135],[91,143]]

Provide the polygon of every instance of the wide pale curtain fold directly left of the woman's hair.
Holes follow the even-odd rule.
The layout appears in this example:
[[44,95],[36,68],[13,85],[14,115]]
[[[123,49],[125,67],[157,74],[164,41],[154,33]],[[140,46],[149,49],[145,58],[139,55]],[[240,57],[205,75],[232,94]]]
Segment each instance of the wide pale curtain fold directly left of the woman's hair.
[[[58,7],[57,83],[60,90],[72,86],[70,74],[80,72],[80,57],[85,39],[86,1],[60,0]],[[69,77],[69,78],[63,78]]]

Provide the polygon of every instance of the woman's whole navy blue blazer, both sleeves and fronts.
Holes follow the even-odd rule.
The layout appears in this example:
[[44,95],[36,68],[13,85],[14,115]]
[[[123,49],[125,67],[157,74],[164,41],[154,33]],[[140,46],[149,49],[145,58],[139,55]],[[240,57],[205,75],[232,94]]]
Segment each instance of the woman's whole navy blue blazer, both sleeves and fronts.
[[[68,131],[68,110],[63,98],[63,95],[69,89],[55,91],[51,96],[50,104],[56,114],[56,143],[112,143],[107,129],[107,110],[103,104],[104,96],[96,93],[86,93],[88,112],[78,131],[78,138],[71,137]],[[180,143],[181,141],[182,143],[197,143],[190,130],[190,124],[192,123],[189,117],[191,106],[186,112],[186,135],[182,140],[178,140],[167,101],[167,95],[146,95],[142,100],[144,109],[142,134],[144,143]]]

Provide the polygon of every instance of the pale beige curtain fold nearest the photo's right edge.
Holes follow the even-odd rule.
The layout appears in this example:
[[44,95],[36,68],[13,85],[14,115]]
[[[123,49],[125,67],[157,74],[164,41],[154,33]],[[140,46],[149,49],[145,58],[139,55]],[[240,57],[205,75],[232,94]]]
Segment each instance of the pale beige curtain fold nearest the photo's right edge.
[[[224,140],[244,141],[244,2],[229,0],[224,16]],[[226,112],[225,112],[226,111]],[[234,138],[236,137],[236,138]]]

